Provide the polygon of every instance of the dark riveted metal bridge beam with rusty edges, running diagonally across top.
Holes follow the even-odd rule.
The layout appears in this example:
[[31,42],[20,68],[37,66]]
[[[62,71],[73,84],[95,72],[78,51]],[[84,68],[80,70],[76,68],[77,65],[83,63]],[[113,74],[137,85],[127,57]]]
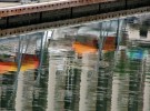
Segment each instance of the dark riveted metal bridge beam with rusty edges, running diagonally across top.
[[0,8],[0,37],[150,12],[149,0],[57,0]]

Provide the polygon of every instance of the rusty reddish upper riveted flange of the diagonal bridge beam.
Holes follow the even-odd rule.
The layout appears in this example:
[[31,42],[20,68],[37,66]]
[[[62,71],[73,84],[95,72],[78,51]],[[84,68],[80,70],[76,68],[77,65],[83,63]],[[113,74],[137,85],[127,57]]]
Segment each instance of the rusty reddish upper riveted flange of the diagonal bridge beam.
[[51,2],[36,3],[36,4],[23,4],[23,6],[16,6],[9,8],[0,8],[0,18],[26,14],[26,13],[34,13],[41,11],[58,10],[58,9],[68,9],[73,7],[81,7],[81,6],[109,2],[109,1],[116,1],[116,0],[57,0]]

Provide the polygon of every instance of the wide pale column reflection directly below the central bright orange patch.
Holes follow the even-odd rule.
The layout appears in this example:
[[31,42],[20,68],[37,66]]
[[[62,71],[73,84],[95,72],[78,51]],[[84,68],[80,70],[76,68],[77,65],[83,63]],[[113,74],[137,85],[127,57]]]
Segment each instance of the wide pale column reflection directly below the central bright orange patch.
[[98,84],[97,60],[98,56],[96,53],[84,53],[82,56],[79,111],[96,111]]

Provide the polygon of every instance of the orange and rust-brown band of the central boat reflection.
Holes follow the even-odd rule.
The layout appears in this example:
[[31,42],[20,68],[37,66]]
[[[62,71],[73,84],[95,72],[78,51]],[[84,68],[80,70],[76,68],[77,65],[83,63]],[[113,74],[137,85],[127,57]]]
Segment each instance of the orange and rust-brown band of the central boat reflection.
[[[93,39],[92,42],[86,42],[86,43],[76,41],[76,42],[73,42],[72,48],[74,49],[74,51],[78,54],[96,53],[98,51],[98,40]],[[116,50],[116,38],[107,37],[102,50],[104,52],[114,51]]]

